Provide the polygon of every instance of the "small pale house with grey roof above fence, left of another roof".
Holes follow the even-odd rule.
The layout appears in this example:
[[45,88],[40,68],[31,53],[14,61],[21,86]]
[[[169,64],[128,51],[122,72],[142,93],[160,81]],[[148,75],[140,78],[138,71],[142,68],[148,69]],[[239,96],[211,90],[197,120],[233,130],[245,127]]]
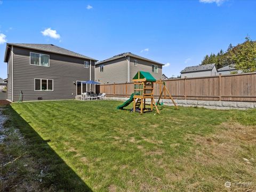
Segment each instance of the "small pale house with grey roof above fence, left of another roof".
[[180,73],[181,73],[181,78],[205,77],[205,76],[218,75],[218,71],[217,71],[217,68],[215,67],[215,63],[207,64],[207,65],[186,67]]

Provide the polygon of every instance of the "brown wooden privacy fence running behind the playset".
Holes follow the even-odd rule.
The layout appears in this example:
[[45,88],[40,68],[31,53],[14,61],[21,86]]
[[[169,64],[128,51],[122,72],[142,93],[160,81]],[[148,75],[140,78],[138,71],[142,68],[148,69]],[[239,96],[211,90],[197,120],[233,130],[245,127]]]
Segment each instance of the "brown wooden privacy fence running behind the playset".
[[[163,81],[174,99],[252,101],[256,102],[256,73],[209,77],[177,78]],[[107,97],[130,97],[133,83],[97,85]],[[154,84],[154,95],[159,97],[162,85]]]

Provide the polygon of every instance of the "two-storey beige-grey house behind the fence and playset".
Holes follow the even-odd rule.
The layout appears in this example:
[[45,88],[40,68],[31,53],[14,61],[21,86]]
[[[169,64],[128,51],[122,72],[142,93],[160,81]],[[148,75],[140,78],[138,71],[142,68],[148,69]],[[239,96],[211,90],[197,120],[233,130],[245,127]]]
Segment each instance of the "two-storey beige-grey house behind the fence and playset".
[[138,71],[149,72],[155,79],[162,79],[164,64],[140,57],[130,52],[115,55],[95,64],[95,79],[101,84],[132,82]]

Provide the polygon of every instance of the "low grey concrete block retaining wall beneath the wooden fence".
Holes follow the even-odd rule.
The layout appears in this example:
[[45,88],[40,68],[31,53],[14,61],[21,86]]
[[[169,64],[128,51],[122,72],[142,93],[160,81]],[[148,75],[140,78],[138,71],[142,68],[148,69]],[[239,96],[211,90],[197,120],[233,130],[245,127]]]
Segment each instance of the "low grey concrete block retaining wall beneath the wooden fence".
[[[107,97],[108,100],[118,100],[126,101],[129,98],[125,97]],[[173,106],[171,99],[161,99],[163,100],[164,105]],[[157,99],[155,99],[157,102]],[[178,106],[183,107],[202,107],[207,109],[253,109],[256,108],[256,102],[238,102],[238,101],[204,101],[204,100],[183,100],[183,99],[174,99]]]

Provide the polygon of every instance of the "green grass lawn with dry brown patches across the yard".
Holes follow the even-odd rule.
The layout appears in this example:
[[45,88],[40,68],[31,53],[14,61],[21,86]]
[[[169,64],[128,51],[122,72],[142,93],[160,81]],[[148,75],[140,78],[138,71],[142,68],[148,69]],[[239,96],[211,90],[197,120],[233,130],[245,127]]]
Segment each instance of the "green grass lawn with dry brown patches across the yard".
[[[161,115],[155,111],[140,115],[116,110],[121,103],[11,104],[9,113],[28,140],[29,154],[40,159],[52,175],[43,179],[44,187],[77,191],[256,190],[256,110],[175,110],[164,106]],[[231,188],[224,186],[226,181]]]

